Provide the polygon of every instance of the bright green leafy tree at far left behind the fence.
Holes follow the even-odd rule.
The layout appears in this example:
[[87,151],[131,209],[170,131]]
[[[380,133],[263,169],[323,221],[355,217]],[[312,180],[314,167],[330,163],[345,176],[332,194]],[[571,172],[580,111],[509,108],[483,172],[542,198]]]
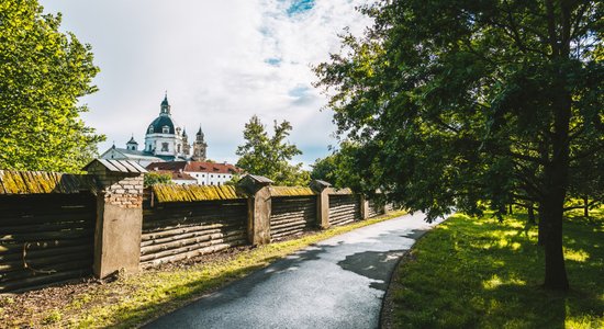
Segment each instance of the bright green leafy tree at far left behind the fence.
[[0,168],[79,171],[97,155],[78,98],[97,90],[89,45],[36,0],[0,3]]

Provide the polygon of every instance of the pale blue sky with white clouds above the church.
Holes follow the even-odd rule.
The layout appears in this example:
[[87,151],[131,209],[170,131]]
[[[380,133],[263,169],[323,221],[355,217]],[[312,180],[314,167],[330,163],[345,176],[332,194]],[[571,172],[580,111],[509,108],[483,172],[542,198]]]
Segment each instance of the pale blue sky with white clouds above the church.
[[312,67],[339,52],[344,29],[360,35],[370,19],[360,0],[40,0],[63,14],[61,31],[92,46],[99,91],[80,102],[87,125],[125,148],[158,116],[167,91],[175,122],[192,141],[200,125],[208,158],[235,163],[251,115],[272,131],[289,121],[289,141],[305,168],[329,154],[333,113],[312,87]]

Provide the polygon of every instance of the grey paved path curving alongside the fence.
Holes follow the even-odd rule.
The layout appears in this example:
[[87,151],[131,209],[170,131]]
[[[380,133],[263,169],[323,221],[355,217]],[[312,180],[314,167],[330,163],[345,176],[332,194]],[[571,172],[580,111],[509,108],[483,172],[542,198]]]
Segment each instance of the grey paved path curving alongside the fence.
[[398,260],[434,226],[405,215],[309,247],[145,328],[377,328]]

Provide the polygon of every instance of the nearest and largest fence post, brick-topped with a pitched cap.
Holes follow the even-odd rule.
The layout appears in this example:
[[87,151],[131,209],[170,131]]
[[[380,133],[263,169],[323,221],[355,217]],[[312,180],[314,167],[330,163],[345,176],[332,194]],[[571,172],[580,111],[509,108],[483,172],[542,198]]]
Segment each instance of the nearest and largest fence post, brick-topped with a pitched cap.
[[96,159],[85,167],[97,177],[94,262],[92,271],[103,279],[121,269],[138,271],[143,225],[143,174],[138,163]]

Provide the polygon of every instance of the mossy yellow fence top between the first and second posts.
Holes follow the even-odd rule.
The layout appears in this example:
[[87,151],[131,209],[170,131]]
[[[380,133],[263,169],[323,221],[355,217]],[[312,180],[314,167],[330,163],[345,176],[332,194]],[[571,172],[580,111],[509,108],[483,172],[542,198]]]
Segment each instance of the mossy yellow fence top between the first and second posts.
[[247,197],[232,185],[153,185],[158,202],[192,202]]

